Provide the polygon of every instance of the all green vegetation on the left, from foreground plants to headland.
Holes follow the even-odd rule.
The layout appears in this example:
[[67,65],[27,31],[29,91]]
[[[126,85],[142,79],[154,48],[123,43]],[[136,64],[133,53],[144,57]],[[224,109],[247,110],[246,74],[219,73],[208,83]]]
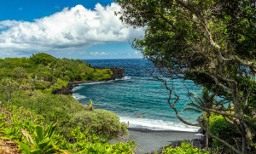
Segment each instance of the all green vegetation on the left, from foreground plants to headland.
[[[81,105],[72,95],[55,95],[68,82],[108,79],[113,74],[110,69],[94,69],[82,60],[56,59],[49,54],[2,59],[0,68],[1,130],[3,137],[17,140],[24,152],[133,152],[134,142],[108,144],[128,134],[127,125],[117,115],[94,109],[92,102]],[[57,121],[58,128],[53,125]]]

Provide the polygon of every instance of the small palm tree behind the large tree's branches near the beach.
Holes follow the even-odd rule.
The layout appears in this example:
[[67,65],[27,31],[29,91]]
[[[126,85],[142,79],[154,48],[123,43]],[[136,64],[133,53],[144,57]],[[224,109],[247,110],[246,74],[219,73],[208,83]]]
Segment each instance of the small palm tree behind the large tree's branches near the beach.
[[[199,97],[197,94],[192,96],[195,102],[187,103],[185,106],[189,106],[183,109],[183,111],[192,111],[195,113],[201,113],[201,107],[212,109],[215,100],[215,94],[210,94],[209,91],[205,88],[201,88],[202,96]],[[209,119],[211,116],[211,112],[207,111],[207,132],[209,131]],[[209,147],[209,136],[207,133],[207,149]]]

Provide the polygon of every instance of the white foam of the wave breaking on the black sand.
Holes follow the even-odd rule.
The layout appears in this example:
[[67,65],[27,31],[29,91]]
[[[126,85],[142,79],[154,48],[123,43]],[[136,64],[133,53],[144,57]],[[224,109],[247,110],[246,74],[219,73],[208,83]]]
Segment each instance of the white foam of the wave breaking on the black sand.
[[128,121],[130,128],[148,128],[152,130],[177,130],[187,132],[196,132],[198,130],[198,127],[189,126],[183,123],[174,123],[170,121],[154,120],[143,117],[120,117],[120,122],[127,123]]

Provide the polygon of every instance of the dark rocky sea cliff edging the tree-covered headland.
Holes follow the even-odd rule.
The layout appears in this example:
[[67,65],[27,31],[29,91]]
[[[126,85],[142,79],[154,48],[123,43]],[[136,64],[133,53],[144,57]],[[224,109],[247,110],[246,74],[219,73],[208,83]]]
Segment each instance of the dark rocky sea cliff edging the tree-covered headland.
[[[92,67],[95,69],[106,69],[105,67]],[[103,79],[103,80],[99,80],[99,81],[84,81],[84,82],[70,82],[67,84],[66,87],[62,87],[60,90],[55,90],[52,92],[52,94],[65,94],[65,95],[69,95],[69,94],[73,94],[73,88],[74,87],[78,87],[80,83],[95,83],[95,82],[105,82],[105,81],[109,81],[109,80],[115,80],[115,79],[121,79],[123,77],[125,77],[125,69],[120,69],[120,68],[109,68],[111,71],[113,71],[113,75],[111,76],[111,78],[109,79]]]

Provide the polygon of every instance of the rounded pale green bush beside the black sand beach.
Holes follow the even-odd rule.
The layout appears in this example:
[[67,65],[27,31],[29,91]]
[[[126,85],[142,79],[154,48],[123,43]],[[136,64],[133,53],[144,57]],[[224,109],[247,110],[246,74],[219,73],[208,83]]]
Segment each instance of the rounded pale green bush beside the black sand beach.
[[82,132],[88,130],[90,134],[100,136],[102,141],[115,139],[119,133],[128,134],[126,123],[120,123],[117,115],[102,109],[74,113],[70,123],[80,127]]

